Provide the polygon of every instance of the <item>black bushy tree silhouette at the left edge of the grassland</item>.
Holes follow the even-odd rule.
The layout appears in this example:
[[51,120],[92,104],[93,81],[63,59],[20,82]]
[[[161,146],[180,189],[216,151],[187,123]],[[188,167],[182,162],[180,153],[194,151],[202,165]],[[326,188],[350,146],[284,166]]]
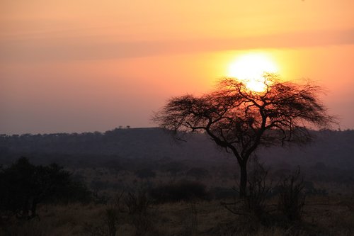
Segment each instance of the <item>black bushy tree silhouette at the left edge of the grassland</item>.
[[86,186],[73,181],[69,172],[57,164],[35,166],[21,157],[0,169],[1,217],[16,215],[34,218],[37,206],[46,201],[83,201],[91,194]]

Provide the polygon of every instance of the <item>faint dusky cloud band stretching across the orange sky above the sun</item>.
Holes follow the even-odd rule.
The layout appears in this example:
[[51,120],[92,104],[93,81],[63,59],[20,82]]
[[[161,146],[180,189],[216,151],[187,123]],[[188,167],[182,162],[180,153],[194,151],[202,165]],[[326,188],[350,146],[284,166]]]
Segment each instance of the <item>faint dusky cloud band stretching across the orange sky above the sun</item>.
[[249,38],[198,40],[118,40],[107,37],[6,38],[0,40],[0,61],[105,60],[222,50],[296,48],[354,43],[354,29],[282,33]]

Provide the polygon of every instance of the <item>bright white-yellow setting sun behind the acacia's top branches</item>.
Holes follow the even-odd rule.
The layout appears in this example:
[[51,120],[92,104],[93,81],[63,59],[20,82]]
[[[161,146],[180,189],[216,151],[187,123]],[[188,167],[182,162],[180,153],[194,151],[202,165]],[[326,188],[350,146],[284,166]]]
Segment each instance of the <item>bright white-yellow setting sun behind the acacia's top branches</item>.
[[265,90],[263,75],[277,72],[278,66],[272,57],[264,53],[253,52],[241,55],[229,64],[227,75],[245,82],[247,89],[261,92]]

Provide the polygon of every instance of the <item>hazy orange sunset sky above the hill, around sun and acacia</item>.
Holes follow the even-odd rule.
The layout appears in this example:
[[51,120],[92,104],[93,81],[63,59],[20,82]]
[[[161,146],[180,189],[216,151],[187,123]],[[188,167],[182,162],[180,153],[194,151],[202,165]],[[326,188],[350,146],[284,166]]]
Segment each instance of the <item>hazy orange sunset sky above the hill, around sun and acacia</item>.
[[354,128],[353,0],[0,0],[0,133],[155,126],[171,96],[202,94],[264,52],[312,79]]

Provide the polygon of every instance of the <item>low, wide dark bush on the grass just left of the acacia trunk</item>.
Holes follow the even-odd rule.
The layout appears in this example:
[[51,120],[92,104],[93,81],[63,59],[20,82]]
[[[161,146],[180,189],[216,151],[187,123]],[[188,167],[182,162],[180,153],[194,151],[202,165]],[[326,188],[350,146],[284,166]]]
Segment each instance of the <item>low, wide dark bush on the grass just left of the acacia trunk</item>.
[[193,181],[179,181],[151,189],[150,195],[158,203],[189,201],[193,198],[206,199],[205,186]]

